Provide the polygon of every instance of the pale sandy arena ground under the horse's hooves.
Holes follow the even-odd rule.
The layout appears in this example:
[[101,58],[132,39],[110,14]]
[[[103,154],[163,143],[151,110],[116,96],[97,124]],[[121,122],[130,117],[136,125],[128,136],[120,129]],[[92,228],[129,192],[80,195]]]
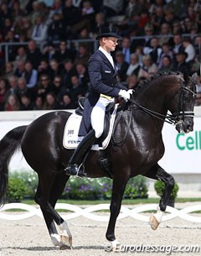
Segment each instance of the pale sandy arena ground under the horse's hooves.
[[[185,206],[185,204],[183,204]],[[10,214],[18,214],[10,213]],[[66,214],[66,213],[64,213]],[[107,214],[106,212],[101,214]],[[201,217],[201,214],[195,214]],[[0,219],[0,256],[102,256],[116,255],[105,251],[107,244],[105,233],[107,222],[95,222],[86,217],[77,217],[68,221],[73,235],[73,249],[59,250],[50,241],[44,219],[34,216],[21,221],[5,221]],[[162,222],[157,231],[146,222],[137,221],[131,217],[118,220],[116,223],[116,238],[121,246],[130,245],[130,251],[117,253],[117,255],[201,255],[201,223],[188,222],[182,218]],[[169,253],[170,246],[189,247],[199,246],[199,252],[173,252]],[[162,252],[133,252],[133,246],[157,246]],[[164,251],[167,246],[167,251]]]

